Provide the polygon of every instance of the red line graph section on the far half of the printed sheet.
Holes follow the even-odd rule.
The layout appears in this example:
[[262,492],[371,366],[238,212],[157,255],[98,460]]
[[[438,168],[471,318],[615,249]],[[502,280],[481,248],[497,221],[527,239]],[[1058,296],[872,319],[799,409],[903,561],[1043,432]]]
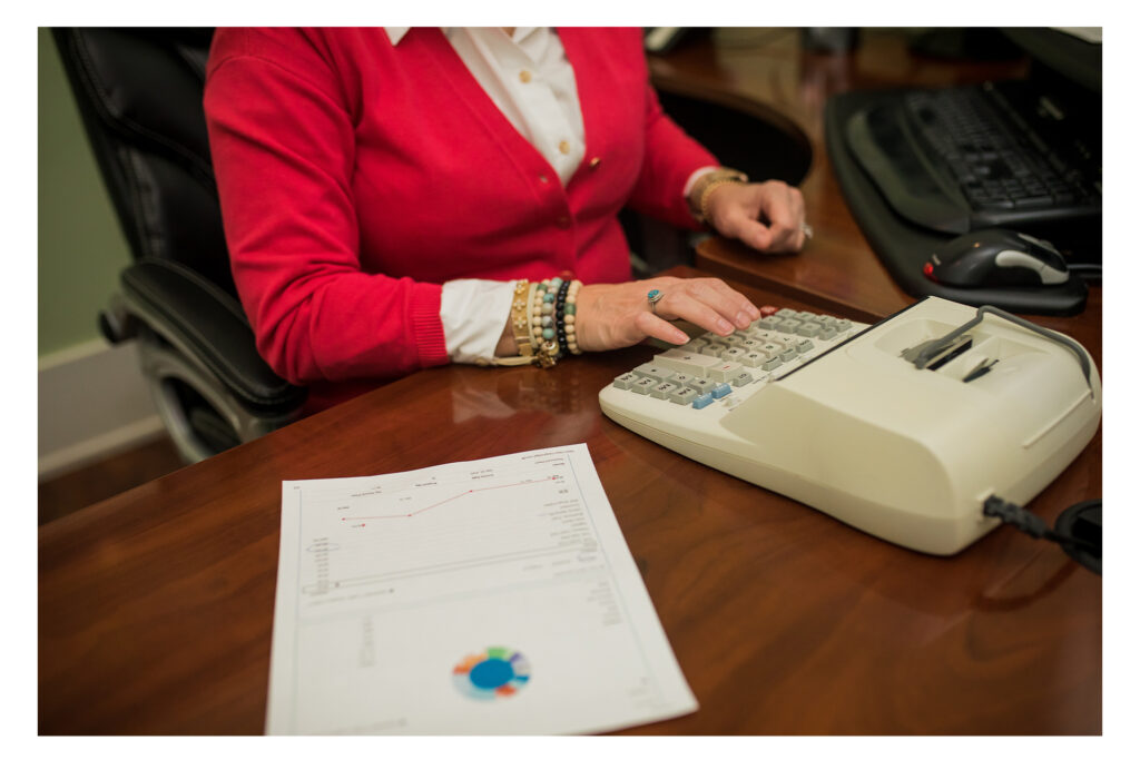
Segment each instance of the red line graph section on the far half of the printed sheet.
[[556,450],[310,484],[301,513],[300,593],[312,604],[486,593],[604,565],[569,455]]

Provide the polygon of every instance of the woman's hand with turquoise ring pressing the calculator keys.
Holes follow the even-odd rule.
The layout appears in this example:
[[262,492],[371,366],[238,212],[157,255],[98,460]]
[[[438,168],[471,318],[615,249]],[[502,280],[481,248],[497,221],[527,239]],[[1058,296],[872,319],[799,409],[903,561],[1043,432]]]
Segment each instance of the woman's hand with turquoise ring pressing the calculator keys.
[[[660,291],[656,311],[649,292]],[[711,277],[653,279],[620,285],[585,285],[578,292],[575,329],[583,351],[606,351],[657,337],[681,345],[689,336],[670,325],[685,319],[717,335],[743,329],[760,311],[743,295]]]

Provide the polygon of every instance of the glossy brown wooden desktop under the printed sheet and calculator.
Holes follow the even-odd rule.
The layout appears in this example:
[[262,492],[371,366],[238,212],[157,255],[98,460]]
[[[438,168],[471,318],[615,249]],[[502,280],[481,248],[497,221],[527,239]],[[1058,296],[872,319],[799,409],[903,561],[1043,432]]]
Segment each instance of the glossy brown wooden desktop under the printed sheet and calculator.
[[[581,441],[701,705],[624,733],[1101,732],[1099,577],[1011,529],[915,554],[662,449],[597,406],[651,353],[432,369],[44,525],[40,733],[263,730],[280,481]],[[1100,463],[1098,433],[1034,512]]]

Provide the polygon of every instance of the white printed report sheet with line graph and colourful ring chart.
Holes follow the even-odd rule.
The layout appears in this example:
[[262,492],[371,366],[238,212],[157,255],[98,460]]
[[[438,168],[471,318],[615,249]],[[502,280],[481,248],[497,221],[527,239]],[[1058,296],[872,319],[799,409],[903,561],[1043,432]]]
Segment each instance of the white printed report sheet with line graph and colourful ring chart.
[[585,444],[282,483],[270,734],[578,734],[697,710]]

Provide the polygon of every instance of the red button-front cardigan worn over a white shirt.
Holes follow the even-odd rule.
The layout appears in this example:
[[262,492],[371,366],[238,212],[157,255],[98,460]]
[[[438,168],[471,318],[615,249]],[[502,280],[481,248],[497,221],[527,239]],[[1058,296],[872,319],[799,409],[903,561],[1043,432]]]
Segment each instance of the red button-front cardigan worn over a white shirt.
[[[629,279],[622,205],[693,227],[716,160],[666,117],[641,31],[559,31],[586,157],[562,187],[438,28],[214,35],[205,111],[238,294],[269,365],[335,394],[448,361],[442,283]],[[505,321],[505,316],[504,316]]]

